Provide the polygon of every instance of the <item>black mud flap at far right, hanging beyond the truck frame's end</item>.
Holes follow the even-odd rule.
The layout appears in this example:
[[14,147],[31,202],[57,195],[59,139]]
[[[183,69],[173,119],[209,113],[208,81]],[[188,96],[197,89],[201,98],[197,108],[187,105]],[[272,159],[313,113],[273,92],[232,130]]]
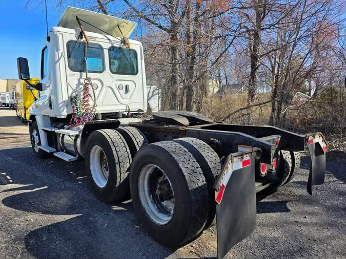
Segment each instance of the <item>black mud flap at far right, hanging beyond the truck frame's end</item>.
[[312,195],[312,186],[324,183],[327,142],[321,133],[314,133],[307,135],[307,143],[311,157],[307,190]]

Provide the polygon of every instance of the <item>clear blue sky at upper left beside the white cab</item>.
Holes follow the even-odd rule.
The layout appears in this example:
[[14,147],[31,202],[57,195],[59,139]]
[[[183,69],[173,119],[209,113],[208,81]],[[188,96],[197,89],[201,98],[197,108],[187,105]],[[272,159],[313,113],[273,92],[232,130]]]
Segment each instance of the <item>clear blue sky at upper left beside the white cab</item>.
[[[0,10],[0,78],[18,78],[17,57],[29,61],[30,76],[39,77],[40,51],[46,35],[46,15],[40,1],[1,0]],[[37,4],[35,4],[35,2]],[[59,10],[48,10],[48,27],[56,26]]]

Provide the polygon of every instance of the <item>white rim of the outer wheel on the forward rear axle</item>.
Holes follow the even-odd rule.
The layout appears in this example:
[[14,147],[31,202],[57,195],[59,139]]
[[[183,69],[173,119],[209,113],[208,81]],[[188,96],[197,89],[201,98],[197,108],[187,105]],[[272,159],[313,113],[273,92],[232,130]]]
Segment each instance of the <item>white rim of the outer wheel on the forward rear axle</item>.
[[90,152],[90,172],[95,184],[104,188],[108,181],[109,167],[104,150],[95,145]]

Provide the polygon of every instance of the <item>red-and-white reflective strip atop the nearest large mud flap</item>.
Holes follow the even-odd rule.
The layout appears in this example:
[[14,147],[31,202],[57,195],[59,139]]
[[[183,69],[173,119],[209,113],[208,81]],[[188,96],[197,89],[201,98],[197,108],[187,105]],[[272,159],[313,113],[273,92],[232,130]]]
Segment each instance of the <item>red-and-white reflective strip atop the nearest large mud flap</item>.
[[236,157],[233,159],[233,163],[232,161],[229,162],[229,164],[227,165],[227,169],[225,170],[225,172],[223,172],[223,175],[220,181],[221,189],[219,191],[215,191],[215,201],[218,204],[221,203],[223,192],[225,192],[227,183],[230,180],[233,171],[247,167],[250,164],[251,164],[251,159],[249,155],[245,155],[243,159],[241,159],[241,156]]

